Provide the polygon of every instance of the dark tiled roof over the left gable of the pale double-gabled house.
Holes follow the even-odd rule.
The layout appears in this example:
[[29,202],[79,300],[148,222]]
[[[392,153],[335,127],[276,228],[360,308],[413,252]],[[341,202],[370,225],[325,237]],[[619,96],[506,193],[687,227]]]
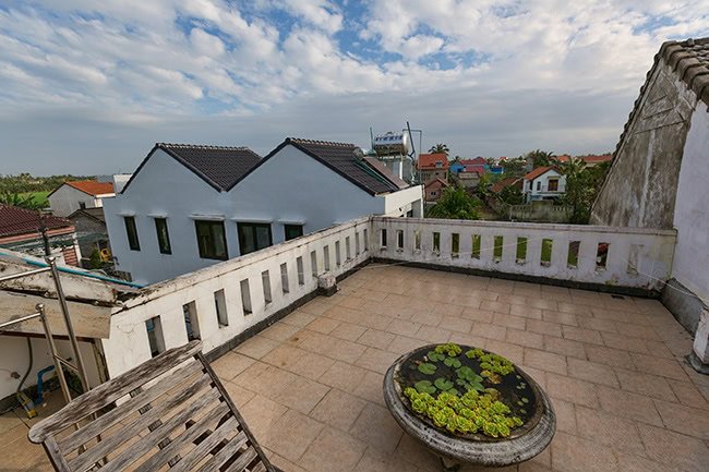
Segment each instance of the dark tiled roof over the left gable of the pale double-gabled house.
[[261,160],[261,157],[248,147],[157,143],[143,162],[141,162],[121,193],[125,192],[141,168],[156,149],[163,149],[220,192],[226,192],[231,189]]

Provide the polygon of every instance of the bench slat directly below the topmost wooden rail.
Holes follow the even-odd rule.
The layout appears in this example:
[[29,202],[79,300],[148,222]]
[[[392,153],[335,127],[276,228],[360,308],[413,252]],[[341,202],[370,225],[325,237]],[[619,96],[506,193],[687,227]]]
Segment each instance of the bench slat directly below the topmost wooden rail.
[[100,433],[113,426],[118,422],[130,416],[136,410],[145,407],[151,401],[165,395],[169,389],[184,382],[189,376],[202,370],[202,364],[199,361],[191,362],[184,367],[171,374],[168,378],[160,379],[152,388],[144,390],[141,395],[131,398],[120,407],[115,408],[98,420],[91,422],[85,427],[72,433],[63,439],[60,439],[59,448],[69,453],[76,449],[79,446],[88,443]]

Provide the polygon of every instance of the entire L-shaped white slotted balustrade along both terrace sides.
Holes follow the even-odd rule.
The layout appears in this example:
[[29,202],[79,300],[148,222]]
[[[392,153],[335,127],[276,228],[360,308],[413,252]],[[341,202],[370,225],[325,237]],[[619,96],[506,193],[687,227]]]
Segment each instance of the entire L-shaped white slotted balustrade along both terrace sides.
[[320,275],[370,258],[659,290],[674,243],[674,231],[650,229],[364,217],[149,286],[101,342],[111,377],[190,332],[208,352],[313,295]]

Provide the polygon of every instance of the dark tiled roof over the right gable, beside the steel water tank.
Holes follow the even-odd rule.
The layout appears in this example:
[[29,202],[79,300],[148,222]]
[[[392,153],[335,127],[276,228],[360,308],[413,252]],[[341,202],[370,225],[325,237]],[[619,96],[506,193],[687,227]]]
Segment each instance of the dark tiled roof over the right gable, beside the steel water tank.
[[372,195],[400,190],[399,184],[395,183],[396,178],[385,166],[382,166],[384,169],[375,168],[361,160],[356,153],[358,146],[354,144],[287,137],[268,156],[275,154],[284,145],[289,144],[314,157]]

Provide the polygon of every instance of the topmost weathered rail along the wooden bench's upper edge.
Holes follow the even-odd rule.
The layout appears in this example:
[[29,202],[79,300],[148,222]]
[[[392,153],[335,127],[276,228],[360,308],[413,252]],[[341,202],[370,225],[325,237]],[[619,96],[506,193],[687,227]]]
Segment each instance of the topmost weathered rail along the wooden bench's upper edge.
[[57,413],[33,426],[28,434],[29,440],[36,444],[44,441],[47,437],[60,433],[70,425],[128,395],[131,390],[166,373],[197,354],[201,350],[202,343],[192,341],[180,348],[165,351],[132,371],[76,397]]

